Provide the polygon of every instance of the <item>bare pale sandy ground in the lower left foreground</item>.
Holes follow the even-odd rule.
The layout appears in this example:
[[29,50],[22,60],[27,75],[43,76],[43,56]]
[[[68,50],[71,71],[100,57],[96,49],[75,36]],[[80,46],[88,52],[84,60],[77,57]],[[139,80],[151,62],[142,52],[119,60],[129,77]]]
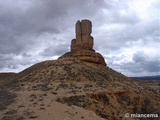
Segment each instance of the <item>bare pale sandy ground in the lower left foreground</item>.
[[104,120],[93,111],[57,102],[61,94],[43,91],[16,92],[15,102],[0,111],[2,120]]

